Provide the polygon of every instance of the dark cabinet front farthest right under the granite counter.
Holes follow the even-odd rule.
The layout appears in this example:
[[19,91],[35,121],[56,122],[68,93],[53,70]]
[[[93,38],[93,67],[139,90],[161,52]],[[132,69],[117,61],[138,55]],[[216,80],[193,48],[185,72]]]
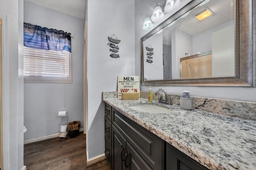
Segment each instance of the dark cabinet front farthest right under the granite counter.
[[166,170],[208,170],[180,150],[166,143]]

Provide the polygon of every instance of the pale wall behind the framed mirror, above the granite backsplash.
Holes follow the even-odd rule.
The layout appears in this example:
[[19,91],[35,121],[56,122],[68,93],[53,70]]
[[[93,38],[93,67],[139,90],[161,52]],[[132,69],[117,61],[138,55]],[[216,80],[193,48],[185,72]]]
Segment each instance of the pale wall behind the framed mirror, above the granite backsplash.
[[[135,74],[140,75],[140,38],[148,31],[142,30],[142,23],[147,12],[152,12],[148,0],[135,0]],[[183,0],[182,0],[183,2]],[[151,10],[151,11],[150,11]],[[165,18],[166,19],[166,18]],[[154,26],[155,27],[155,26]],[[153,86],[152,90],[163,88],[170,94],[182,94],[183,90],[190,91],[191,96],[220,98],[256,102],[256,88],[236,87],[194,87],[194,86]],[[148,91],[148,86],[141,86],[141,90]]]

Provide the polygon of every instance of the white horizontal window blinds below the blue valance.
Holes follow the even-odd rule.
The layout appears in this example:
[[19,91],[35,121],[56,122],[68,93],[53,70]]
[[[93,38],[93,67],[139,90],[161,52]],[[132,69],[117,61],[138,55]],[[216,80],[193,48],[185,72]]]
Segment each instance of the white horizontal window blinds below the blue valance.
[[24,46],[25,83],[72,83],[69,51],[33,49]]

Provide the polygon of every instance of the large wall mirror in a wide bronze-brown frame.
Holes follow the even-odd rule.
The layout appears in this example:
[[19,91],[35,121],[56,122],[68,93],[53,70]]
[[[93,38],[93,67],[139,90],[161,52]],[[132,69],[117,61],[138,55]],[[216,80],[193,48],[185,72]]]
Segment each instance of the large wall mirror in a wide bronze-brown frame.
[[254,87],[255,6],[190,1],[141,38],[141,84]]

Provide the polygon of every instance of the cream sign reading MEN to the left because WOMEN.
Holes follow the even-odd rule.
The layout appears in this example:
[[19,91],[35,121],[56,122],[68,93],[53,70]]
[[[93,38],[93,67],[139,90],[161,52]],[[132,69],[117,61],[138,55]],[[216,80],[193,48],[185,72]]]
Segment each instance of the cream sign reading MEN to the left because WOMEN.
[[140,94],[140,76],[118,76],[118,98],[122,93],[139,93]]

